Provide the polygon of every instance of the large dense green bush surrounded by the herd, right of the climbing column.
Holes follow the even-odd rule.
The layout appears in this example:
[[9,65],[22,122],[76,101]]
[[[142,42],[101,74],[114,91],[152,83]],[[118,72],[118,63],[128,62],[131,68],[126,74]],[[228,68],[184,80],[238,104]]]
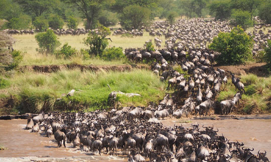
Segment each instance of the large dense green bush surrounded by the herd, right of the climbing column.
[[237,26],[231,32],[220,32],[209,48],[221,53],[216,59],[218,64],[238,64],[252,58],[252,46],[253,39]]

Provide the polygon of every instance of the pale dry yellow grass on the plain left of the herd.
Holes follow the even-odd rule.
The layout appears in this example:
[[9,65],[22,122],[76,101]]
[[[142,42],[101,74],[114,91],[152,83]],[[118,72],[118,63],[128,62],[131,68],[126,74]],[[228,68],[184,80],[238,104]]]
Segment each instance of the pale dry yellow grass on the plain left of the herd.
[[[13,45],[14,49],[23,51],[23,61],[20,65],[47,65],[47,64],[68,64],[68,63],[78,63],[78,64],[125,64],[124,60],[113,60],[113,61],[104,61],[98,58],[83,59],[81,57],[75,56],[71,59],[56,58],[54,55],[44,55],[38,53],[36,48],[38,48],[38,43],[35,40],[36,34],[15,34],[13,37],[17,40]],[[61,44],[67,42],[72,47],[75,47],[77,50],[81,48],[87,48],[83,43],[83,38],[85,35],[60,35],[58,36]],[[112,46],[121,46],[125,48],[137,48],[143,47],[146,40],[154,39],[153,36],[150,36],[148,32],[144,32],[143,36],[137,37],[123,37],[121,35],[110,35],[112,42],[109,41],[108,47]],[[165,37],[160,37],[160,39],[165,40]]]

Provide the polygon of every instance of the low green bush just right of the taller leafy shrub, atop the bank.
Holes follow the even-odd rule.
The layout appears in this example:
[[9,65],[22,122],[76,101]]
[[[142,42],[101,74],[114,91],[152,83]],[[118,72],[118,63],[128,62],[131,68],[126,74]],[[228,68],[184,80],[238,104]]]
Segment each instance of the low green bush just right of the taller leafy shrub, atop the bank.
[[105,60],[113,60],[113,59],[121,59],[125,58],[123,52],[122,52],[122,47],[111,47],[111,48],[106,48],[103,53],[102,53],[102,59]]

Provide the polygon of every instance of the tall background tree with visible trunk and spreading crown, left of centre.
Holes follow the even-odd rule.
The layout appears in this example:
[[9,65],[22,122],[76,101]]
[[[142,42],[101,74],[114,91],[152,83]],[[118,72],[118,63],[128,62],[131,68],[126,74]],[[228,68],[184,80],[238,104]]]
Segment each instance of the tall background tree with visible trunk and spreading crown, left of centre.
[[86,19],[85,28],[93,29],[97,25],[97,17],[101,9],[103,8],[103,2],[105,0],[65,0],[71,4],[74,4],[78,7],[80,12],[83,15],[83,18]]

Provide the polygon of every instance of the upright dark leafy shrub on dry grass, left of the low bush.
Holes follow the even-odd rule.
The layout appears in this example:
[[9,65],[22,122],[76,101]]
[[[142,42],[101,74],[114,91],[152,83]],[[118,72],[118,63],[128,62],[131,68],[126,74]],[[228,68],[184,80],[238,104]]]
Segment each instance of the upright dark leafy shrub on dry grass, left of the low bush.
[[101,56],[103,50],[108,45],[106,36],[110,35],[110,29],[102,25],[98,25],[98,32],[89,31],[88,36],[84,38],[84,43],[89,47],[88,53]]

